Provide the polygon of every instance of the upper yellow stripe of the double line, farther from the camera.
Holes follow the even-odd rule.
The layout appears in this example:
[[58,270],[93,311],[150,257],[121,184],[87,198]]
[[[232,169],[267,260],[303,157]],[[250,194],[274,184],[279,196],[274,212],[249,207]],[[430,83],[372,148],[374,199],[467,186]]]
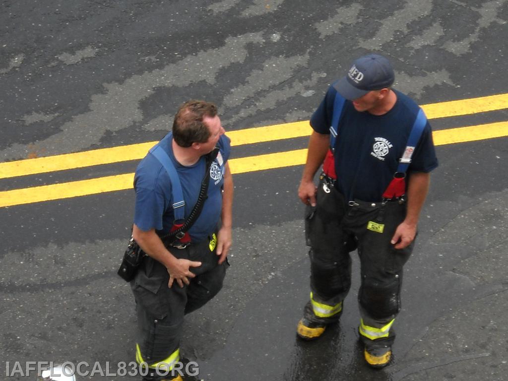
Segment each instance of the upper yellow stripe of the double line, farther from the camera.
[[[508,108],[508,94],[423,105],[429,119],[468,115]],[[228,132],[233,146],[304,137],[308,120]],[[67,153],[0,163],[0,179],[140,160],[156,142]]]

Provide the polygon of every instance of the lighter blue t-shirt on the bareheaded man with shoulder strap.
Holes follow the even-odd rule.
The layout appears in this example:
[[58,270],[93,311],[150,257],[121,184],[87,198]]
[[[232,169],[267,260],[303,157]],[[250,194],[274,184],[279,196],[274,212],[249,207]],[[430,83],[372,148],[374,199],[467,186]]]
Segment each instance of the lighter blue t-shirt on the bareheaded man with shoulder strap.
[[[177,162],[171,146],[172,134],[166,135],[159,145],[169,155],[180,179],[185,215],[187,218],[198,200],[201,182],[205,176],[206,158],[201,156],[192,166],[182,166]],[[222,188],[224,185],[225,164],[231,152],[230,139],[222,135],[218,142],[219,153],[213,161],[209,176],[208,198],[198,219],[188,230],[193,242],[200,242],[215,232],[222,210]],[[173,196],[171,180],[166,169],[152,154],[147,154],[138,165],[134,176],[136,207],[134,223],[143,230],[155,229],[158,234],[166,234],[173,226]]]

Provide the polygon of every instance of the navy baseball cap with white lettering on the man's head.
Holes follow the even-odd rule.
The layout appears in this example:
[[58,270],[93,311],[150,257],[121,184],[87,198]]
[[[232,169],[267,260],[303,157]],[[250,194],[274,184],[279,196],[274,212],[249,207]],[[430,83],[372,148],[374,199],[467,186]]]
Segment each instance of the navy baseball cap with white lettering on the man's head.
[[369,91],[390,87],[394,81],[390,61],[379,54],[368,54],[355,60],[347,75],[334,87],[342,97],[352,101]]

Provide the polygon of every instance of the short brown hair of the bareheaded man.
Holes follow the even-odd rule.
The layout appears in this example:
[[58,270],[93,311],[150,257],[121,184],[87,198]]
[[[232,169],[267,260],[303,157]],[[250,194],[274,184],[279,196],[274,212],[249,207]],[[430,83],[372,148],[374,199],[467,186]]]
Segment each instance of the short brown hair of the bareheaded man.
[[187,101],[180,106],[173,121],[173,139],[180,147],[193,143],[204,143],[210,137],[208,127],[203,123],[205,116],[213,118],[217,107],[211,102]]

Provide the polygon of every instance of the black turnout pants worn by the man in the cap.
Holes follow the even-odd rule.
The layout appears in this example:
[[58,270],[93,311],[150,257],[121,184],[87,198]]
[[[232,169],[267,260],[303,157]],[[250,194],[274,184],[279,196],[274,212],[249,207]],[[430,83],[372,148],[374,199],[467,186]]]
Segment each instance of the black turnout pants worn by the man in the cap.
[[316,206],[307,207],[305,216],[311,266],[307,320],[328,324],[339,319],[351,287],[350,252],[358,249],[360,337],[367,345],[393,342],[391,326],[400,310],[402,267],[414,241],[404,249],[395,249],[390,241],[405,214],[403,202],[349,203],[326,179],[320,181]]

